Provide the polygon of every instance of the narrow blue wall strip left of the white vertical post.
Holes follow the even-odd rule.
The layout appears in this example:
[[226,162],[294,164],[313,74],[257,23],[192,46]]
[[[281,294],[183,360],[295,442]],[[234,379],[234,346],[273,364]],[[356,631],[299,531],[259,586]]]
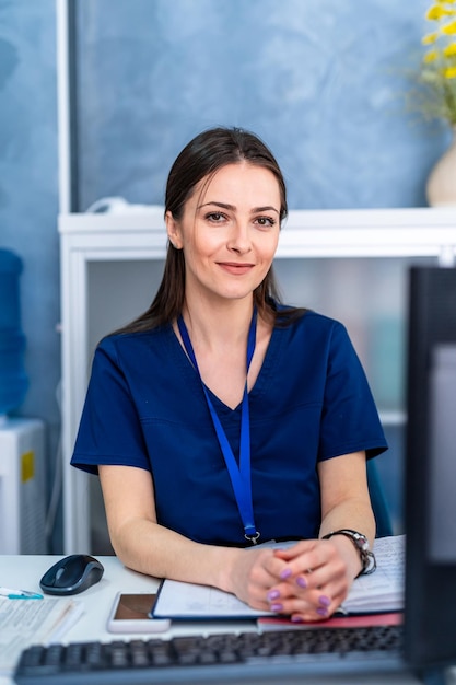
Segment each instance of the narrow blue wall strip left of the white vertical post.
[[49,480],[60,421],[56,88],[55,0],[0,0],[0,246],[24,263],[30,390],[20,414],[46,421]]

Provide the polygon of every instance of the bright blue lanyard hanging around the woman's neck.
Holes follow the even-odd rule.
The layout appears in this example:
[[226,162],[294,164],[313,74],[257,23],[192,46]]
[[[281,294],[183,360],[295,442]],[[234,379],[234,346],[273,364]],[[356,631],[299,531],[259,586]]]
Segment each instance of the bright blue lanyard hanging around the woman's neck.
[[[254,521],[254,507],[252,502],[252,479],[250,479],[250,416],[248,410],[248,391],[247,391],[247,378],[244,386],[244,395],[242,402],[242,414],[241,414],[241,444],[239,444],[239,465],[237,465],[236,460],[233,454],[233,450],[231,449],[230,442],[226,438],[226,433],[223,430],[223,426],[220,422],[219,416],[215,411],[215,408],[212,404],[212,400],[209,396],[208,388],[202,382],[201,374],[198,369],[197,359],[195,357],[195,351],[191,346],[190,336],[188,335],[187,326],[184,323],[184,318],[182,316],[177,320],[177,326],[179,328],[179,333],[184,342],[184,347],[188,357],[190,358],[191,363],[197,371],[202,390],[204,391],[206,400],[208,403],[209,411],[212,417],[213,427],[215,429],[215,433],[219,440],[220,449],[222,450],[223,457],[225,460],[226,468],[230,474],[231,484],[233,486],[234,497],[236,498],[237,509],[241,514],[241,519],[244,525],[244,536],[252,544],[256,544],[259,537],[259,533],[255,526]],[[254,310],[254,314],[252,316],[250,328],[248,330],[248,339],[247,339],[247,373],[250,367],[252,358],[255,351],[255,341],[256,341],[256,329],[257,329],[257,312]]]

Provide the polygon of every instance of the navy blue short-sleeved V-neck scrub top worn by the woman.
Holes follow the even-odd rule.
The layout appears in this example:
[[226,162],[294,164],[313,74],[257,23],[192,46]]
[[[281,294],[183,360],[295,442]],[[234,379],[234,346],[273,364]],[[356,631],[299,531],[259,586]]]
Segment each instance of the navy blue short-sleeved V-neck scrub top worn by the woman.
[[[211,398],[237,456],[241,405]],[[276,327],[249,407],[259,542],[317,536],[317,463],[387,449],[346,328],[314,312]],[[202,543],[246,543],[200,379],[171,325],[98,345],[71,463],[150,471],[159,523]]]

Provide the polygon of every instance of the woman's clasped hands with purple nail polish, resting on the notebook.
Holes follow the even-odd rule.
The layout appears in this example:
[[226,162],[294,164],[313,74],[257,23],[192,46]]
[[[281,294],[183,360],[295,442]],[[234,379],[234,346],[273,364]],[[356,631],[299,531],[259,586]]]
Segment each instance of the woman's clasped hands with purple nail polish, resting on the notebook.
[[350,569],[353,552],[339,541],[309,539],[283,549],[244,552],[247,596],[236,592],[237,596],[254,608],[284,614],[296,623],[328,618],[355,576]]

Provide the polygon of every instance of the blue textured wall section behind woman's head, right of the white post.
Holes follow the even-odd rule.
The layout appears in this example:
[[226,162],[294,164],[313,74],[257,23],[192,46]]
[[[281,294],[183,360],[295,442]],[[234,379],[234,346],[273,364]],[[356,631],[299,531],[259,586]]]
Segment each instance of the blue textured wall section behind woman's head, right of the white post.
[[80,1],[80,207],[160,202],[175,154],[218,124],[270,144],[291,207],[424,205],[445,137],[402,94],[428,4]]

